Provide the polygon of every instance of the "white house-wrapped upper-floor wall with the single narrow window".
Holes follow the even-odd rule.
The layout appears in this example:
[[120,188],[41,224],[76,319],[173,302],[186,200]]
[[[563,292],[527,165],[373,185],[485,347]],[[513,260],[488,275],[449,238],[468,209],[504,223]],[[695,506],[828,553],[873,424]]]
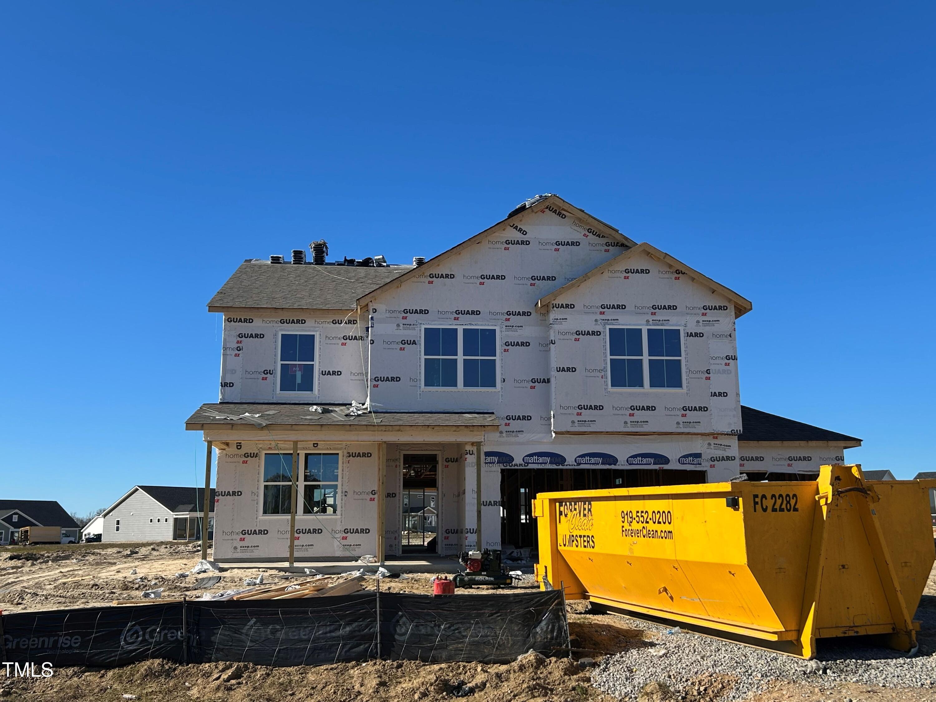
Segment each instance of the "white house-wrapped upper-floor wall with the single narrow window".
[[[296,359],[282,353],[284,334],[305,335],[303,356],[298,359],[301,363],[290,362]],[[314,341],[310,341],[310,336]],[[367,397],[366,359],[358,317],[346,310],[264,309],[225,314],[220,399],[221,402],[363,402]],[[297,372],[313,374],[312,392],[294,391],[302,387],[295,385]],[[284,374],[287,377],[281,378]],[[289,381],[293,383],[292,389]]]

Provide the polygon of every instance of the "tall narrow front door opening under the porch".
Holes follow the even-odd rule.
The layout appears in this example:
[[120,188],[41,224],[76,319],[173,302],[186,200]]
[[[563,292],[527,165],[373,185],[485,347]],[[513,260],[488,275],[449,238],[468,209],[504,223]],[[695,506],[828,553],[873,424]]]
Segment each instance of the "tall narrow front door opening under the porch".
[[439,456],[404,453],[402,499],[403,553],[438,553]]

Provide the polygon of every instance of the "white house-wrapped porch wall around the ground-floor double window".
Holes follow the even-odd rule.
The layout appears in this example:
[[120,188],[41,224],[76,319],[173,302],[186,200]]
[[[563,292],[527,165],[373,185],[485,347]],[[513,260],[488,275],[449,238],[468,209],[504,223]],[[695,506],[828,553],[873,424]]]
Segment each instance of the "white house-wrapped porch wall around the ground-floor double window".
[[[289,515],[264,515],[263,457],[290,454],[291,444],[238,442],[218,451],[214,513],[217,561],[283,561],[289,553]],[[338,514],[296,516],[297,559],[374,555],[377,527],[377,445],[300,442],[306,453],[338,453]],[[300,478],[304,475],[300,471]]]

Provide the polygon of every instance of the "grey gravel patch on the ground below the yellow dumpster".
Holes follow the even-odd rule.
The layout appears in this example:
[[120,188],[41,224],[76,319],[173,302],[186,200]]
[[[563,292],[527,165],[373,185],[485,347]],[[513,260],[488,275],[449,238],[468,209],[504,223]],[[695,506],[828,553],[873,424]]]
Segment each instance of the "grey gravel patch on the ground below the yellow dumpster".
[[[931,689],[936,699],[936,597],[924,597],[916,612],[922,624],[920,649],[913,658],[899,651],[863,648],[858,639],[820,644],[814,661],[803,661],[709,636],[673,631],[665,626],[627,620],[650,631],[651,640],[636,641],[627,651],[607,656],[592,671],[592,684],[624,700],[636,700],[648,683],[663,682],[676,699],[698,698],[699,680],[733,680],[716,695],[745,699],[772,680],[805,682],[831,688],[845,682],[890,688]],[[714,692],[714,691],[712,691]]]

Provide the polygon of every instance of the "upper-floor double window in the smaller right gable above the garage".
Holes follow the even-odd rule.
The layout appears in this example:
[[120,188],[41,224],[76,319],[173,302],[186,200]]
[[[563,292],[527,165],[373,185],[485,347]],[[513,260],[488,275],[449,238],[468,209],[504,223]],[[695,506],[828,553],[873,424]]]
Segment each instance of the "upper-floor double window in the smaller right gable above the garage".
[[608,375],[612,389],[682,389],[682,330],[609,327]]

